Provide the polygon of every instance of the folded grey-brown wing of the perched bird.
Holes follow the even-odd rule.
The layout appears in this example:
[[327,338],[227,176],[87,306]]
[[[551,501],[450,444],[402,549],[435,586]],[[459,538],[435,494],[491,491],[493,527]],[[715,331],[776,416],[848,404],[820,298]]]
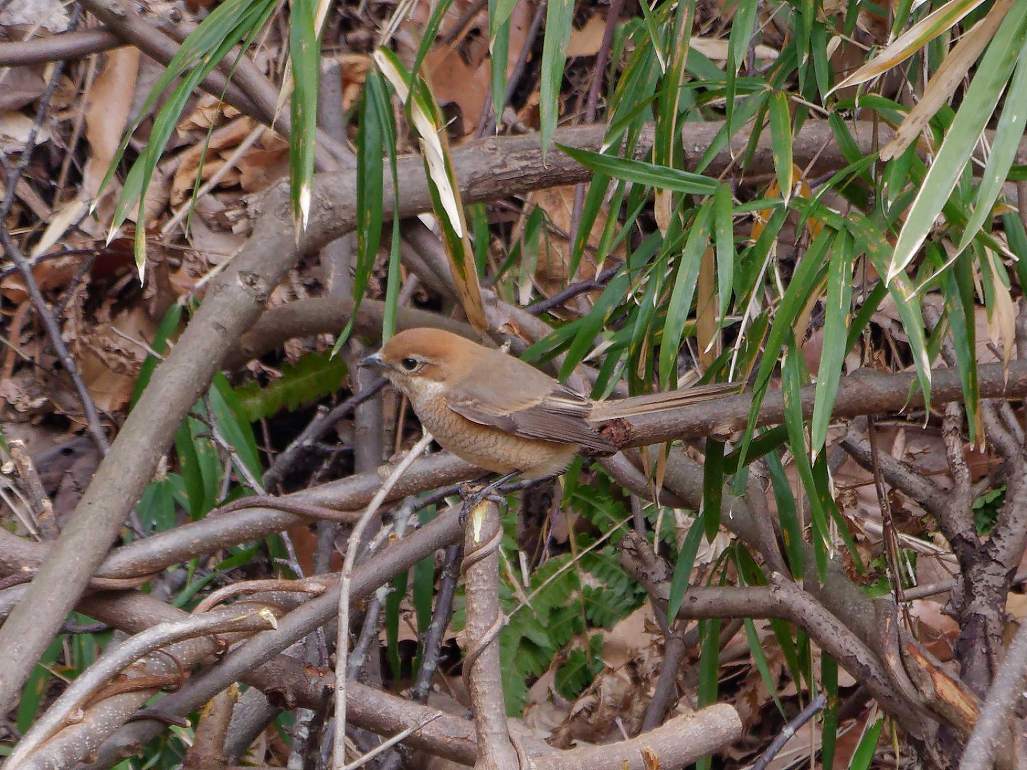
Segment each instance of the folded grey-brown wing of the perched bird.
[[592,401],[541,372],[536,373],[544,377],[547,390],[540,392],[531,387],[542,381],[528,375],[525,387],[519,389],[512,402],[498,403],[495,388],[473,378],[450,389],[447,406],[479,425],[490,425],[524,438],[572,444],[597,453],[617,451],[585,419],[592,411]]

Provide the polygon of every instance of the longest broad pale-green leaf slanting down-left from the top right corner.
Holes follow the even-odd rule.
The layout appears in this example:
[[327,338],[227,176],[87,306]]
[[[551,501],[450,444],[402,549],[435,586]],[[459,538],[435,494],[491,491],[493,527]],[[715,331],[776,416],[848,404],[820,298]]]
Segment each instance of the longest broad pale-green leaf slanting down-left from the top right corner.
[[906,269],[934,228],[935,220],[955,189],[981,132],[998,104],[1024,46],[1025,33],[1027,3],[1016,3],[988,45],[945,141],[910,206],[887,266],[885,282],[890,283]]

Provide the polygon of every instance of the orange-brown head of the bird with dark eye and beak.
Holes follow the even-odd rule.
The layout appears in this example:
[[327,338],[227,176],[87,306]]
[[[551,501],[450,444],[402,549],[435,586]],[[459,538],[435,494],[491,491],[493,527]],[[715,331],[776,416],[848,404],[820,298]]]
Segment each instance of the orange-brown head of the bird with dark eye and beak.
[[463,337],[440,329],[409,329],[360,361],[378,369],[416,399],[460,380],[485,350]]

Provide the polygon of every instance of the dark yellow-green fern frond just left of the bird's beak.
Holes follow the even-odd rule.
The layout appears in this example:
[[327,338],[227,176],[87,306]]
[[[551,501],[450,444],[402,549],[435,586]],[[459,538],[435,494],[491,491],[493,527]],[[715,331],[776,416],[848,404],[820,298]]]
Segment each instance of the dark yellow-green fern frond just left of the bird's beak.
[[293,412],[302,406],[338,392],[347,368],[342,358],[327,353],[307,353],[296,363],[281,368],[281,377],[261,387],[250,382],[235,388],[246,420],[256,422],[282,410]]

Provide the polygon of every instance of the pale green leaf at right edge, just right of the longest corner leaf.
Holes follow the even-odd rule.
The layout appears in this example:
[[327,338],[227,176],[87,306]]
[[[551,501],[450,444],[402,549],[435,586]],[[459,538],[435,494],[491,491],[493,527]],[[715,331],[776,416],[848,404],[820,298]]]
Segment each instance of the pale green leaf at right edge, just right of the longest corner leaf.
[[[1027,43],[1020,49],[1017,56],[1017,70],[1005,94],[1005,107],[998,118],[998,127],[991,143],[991,154],[984,168],[981,183],[974,196],[974,210],[963,228],[957,252],[962,252],[981,226],[991,219],[991,209],[1002,191],[1002,184],[1016,159],[1020,140],[1024,136],[1024,124],[1027,123]],[[912,148],[911,148],[912,149]]]

